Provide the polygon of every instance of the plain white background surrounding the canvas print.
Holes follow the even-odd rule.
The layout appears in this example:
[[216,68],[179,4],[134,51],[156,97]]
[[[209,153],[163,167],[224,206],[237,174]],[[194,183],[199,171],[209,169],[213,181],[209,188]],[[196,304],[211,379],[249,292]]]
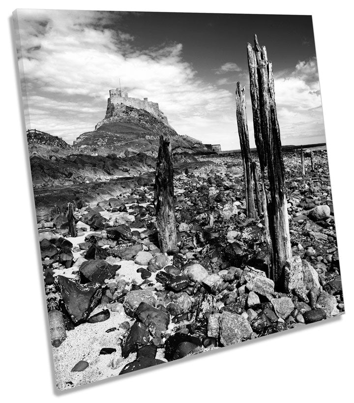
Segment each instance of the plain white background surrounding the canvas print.
[[[8,1],[1,5],[4,402],[349,402],[353,382],[353,10],[349,1]],[[172,4],[172,5],[169,5]],[[200,5],[199,5],[200,4]],[[57,392],[11,13],[17,8],[311,14],[347,313],[305,329]],[[187,29],[187,28],[186,28]]]

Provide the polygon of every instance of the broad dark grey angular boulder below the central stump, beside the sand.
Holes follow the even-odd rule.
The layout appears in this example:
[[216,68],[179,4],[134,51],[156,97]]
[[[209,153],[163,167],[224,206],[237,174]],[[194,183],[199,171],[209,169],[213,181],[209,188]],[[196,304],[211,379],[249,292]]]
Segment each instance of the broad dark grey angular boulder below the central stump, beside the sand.
[[138,309],[135,311],[135,317],[146,326],[152,337],[159,338],[161,333],[167,330],[170,323],[170,316],[158,310],[145,302],[140,303]]

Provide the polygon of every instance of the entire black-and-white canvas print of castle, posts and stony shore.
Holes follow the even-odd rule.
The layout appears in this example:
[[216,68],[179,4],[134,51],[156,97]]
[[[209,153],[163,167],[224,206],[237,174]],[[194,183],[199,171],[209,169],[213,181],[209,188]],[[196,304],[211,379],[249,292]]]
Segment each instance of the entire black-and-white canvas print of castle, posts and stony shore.
[[344,313],[311,16],[14,25],[60,390]]

